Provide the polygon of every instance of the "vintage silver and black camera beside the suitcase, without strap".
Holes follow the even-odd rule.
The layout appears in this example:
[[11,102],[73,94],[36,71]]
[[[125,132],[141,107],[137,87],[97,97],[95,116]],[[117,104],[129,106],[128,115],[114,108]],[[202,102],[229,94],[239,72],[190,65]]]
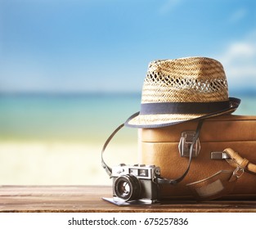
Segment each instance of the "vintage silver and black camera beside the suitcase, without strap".
[[159,200],[160,168],[155,165],[119,164],[112,168],[113,199],[155,203]]

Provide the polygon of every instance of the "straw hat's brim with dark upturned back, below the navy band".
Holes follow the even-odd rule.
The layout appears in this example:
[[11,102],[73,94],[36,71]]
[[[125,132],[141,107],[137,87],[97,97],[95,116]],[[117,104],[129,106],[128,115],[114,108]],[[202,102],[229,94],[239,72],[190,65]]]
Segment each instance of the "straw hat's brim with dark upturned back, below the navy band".
[[132,115],[124,123],[131,128],[161,128],[177,123],[183,123],[194,119],[206,119],[218,115],[227,115],[233,113],[240,105],[240,99],[229,98],[229,107],[209,114],[154,114],[141,115],[140,112]]

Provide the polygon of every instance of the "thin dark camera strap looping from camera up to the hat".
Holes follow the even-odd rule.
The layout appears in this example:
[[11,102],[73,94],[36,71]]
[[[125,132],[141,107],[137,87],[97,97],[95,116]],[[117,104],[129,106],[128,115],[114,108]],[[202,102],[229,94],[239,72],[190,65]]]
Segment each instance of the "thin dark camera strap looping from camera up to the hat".
[[[199,123],[197,124],[197,128],[196,128],[196,131],[195,131],[195,137],[193,138],[193,141],[191,142],[191,146],[190,146],[190,153],[189,153],[189,161],[188,161],[188,165],[187,165],[187,168],[186,168],[186,171],[182,174],[181,177],[177,177],[176,179],[166,179],[166,178],[163,178],[163,177],[159,177],[157,178],[157,182],[159,184],[168,184],[168,185],[176,185],[177,183],[179,182],[182,182],[182,180],[184,179],[184,177],[186,177],[186,174],[188,173],[190,167],[191,167],[191,161],[192,161],[192,155],[193,155],[193,148],[195,146],[195,142],[196,140],[198,139],[199,135],[200,135],[200,129],[203,125],[203,119],[200,119],[199,120]],[[108,166],[106,164],[106,162],[104,161],[103,159],[103,153],[104,151],[106,150],[106,146],[108,146],[108,144],[110,143],[111,139],[115,136],[115,134],[117,132],[119,132],[119,130],[121,128],[124,127],[124,123],[122,123],[121,125],[119,125],[118,128],[115,129],[114,132],[111,133],[110,137],[108,137],[108,139],[106,140],[102,150],[101,150],[101,165],[102,167],[106,170],[106,173],[111,177],[112,175],[112,168],[110,168],[110,166]]]

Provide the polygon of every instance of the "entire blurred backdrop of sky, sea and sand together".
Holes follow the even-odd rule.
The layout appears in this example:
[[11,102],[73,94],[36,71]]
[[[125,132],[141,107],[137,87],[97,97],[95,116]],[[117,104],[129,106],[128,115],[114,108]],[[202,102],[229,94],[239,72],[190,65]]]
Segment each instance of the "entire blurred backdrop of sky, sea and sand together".
[[[0,185],[111,184],[101,148],[140,110],[150,61],[220,61],[236,114],[256,115],[255,3],[0,1]],[[105,156],[136,164],[137,129]]]

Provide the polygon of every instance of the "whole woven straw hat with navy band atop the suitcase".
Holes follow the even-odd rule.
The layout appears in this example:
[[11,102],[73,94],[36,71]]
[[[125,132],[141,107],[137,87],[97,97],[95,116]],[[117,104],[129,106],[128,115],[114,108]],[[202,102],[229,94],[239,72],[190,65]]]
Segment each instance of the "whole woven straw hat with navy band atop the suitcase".
[[141,110],[125,123],[158,128],[230,114],[240,100],[228,97],[222,64],[207,57],[152,61],[141,93]]

